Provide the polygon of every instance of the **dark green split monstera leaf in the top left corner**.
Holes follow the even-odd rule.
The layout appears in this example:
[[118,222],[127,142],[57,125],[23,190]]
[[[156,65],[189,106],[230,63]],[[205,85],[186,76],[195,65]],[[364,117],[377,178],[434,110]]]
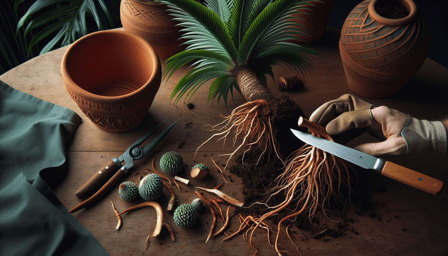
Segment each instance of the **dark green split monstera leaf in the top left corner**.
[[[16,0],[14,2],[14,10],[16,13],[18,5],[23,1],[25,0]],[[95,2],[101,7],[99,11],[95,7]],[[16,33],[31,18],[31,15],[52,4],[57,4],[56,8],[32,19],[25,29],[23,36],[35,28],[50,24],[49,26],[43,27],[42,30],[32,37],[28,45],[28,53],[34,45],[56,31],[58,31],[56,36],[42,48],[40,54],[51,51],[61,40],[62,43],[60,46],[63,47],[87,35],[87,13],[95,19],[98,30],[109,29],[109,25],[111,28],[114,27],[112,17],[104,0],[37,0],[18,21]]]

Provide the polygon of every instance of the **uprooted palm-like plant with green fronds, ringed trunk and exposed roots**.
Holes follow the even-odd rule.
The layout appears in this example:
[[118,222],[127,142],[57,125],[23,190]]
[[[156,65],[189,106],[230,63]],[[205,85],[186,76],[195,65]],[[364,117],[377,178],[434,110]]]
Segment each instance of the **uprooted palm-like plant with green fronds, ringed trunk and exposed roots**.
[[191,98],[200,86],[215,78],[207,102],[217,98],[219,107],[222,97],[227,107],[228,94],[233,96],[234,89],[247,100],[211,129],[222,130],[211,138],[222,135],[225,140],[233,131],[243,138],[229,160],[244,145],[254,144],[262,151],[260,157],[272,149],[279,156],[278,131],[297,127],[303,112],[289,97],[274,96],[266,86],[265,75],[274,79],[272,65],[277,64],[293,72],[309,72],[312,62],[305,54],[321,56],[313,49],[285,42],[299,39],[297,35],[306,36],[300,19],[291,15],[300,13],[302,5],[312,1],[206,0],[205,5],[193,0],[163,2],[182,22],[183,38],[189,44],[186,51],[166,61],[164,76],[169,79],[179,67],[196,61],[194,69],[177,83],[171,100],[175,98],[177,103],[184,95]]

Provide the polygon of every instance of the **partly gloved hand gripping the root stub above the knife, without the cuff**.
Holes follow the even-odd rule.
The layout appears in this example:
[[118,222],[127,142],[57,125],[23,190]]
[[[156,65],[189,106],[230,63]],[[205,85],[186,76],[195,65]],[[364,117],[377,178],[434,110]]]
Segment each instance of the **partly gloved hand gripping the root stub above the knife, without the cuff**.
[[345,94],[320,106],[310,121],[325,126],[337,143],[346,144],[364,132],[381,140],[354,149],[372,156],[402,155],[408,147],[401,135],[409,116],[386,106],[376,107],[354,95]]

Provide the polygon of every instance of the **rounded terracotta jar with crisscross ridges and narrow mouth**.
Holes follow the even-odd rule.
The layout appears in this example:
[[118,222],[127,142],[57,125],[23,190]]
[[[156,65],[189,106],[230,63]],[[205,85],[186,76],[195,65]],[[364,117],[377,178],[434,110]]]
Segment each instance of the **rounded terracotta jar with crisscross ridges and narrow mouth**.
[[430,46],[429,28],[411,0],[397,0],[409,15],[381,17],[380,0],[358,4],[345,20],[339,41],[347,82],[354,92],[370,98],[388,97],[417,73]]

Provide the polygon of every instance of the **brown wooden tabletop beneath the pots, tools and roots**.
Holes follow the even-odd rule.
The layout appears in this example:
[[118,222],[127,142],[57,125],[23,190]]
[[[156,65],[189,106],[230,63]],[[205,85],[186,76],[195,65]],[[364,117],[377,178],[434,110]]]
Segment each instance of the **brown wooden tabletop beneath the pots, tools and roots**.
[[[356,95],[347,85],[344,69],[339,55],[338,39],[340,30],[327,27],[323,37],[310,47],[326,56],[327,61],[315,60],[316,68],[312,75],[308,75],[304,81],[306,89],[300,92],[286,92],[302,107],[307,116],[321,104],[336,99],[345,93]],[[211,157],[219,165],[227,161],[223,153],[232,151],[231,143],[224,145],[221,142],[210,142],[195,151],[199,145],[207,140],[212,133],[204,131],[207,124],[220,123],[223,118],[220,113],[227,115],[233,108],[244,103],[241,95],[235,95],[234,100],[229,100],[229,108],[217,108],[216,104],[206,106],[208,86],[210,82],[200,88],[191,98],[193,109],[187,108],[183,100],[178,104],[169,102],[169,95],[176,82],[187,68],[182,68],[164,86],[162,83],[155,100],[151,105],[144,121],[140,126],[129,132],[114,134],[98,129],[81,112],[77,104],[69,97],[62,81],[60,63],[68,47],[56,49],[9,70],[0,76],[0,80],[11,87],[34,95],[42,100],[72,109],[82,117],[73,139],[67,145],[66,173],[61,174],[59,182],[52,187],[61,202],[67,209],[71,209],[87,198],[77,198],[74,191],[78,189],[95,171],[106,164],[112,157],[120,156],[134,140],[143,135],[151,126],[165,121],[162,128],[179,120],[168,136],[150,154],[140,161],[135,161],[134,169],[126,174],[122,181],[138,181],[138,175],[134,173],[143,168],[151,168],[151,161],[155,157],[156,167],[159,169],[159,159],[165,152],[179,152],[185,163],[184,169],[178,175],[190,179],[191,185],[181,186],[178,191],[175,185],[173,190],[177,195],[176,205],[190,203],[196,198],[195,188],[202,187],[202,183],[189,177],[191,167],[197,163],[203,163],[210,167],[211,176],[204,179],[207,187],[223,183],[217,168],[211,164]],[[162,64],[164,60],[161,60]],[[281,92],[277,87],[280,77],[288,77],[282,67],[274,67],[275,84],[268,79],[268,87],[275,94]],[[367,102],[376,105],[386,105],[403,113],[409,113],[413,117],[434,120],[447,115],[447,82],[448,69],[430,59],[426,59],[422,69],[400,91],[386,99],[371,100]],[[222,103],[222,102],[221,102]],[[224,106],[222,104],[221,106]],[[162,129],[160,129],[162,130]],[[155,135],[151,136],[153,138]],[[179,142],[184,141],[184,146],[178,148]],[[364,134],[354,139],[348,145],[372,142],[375,139]],[[396,164],[414,169],[423,174],[448,182],[448,157],[439,156],[383,156],[384,159]],[[159,169],[160,170],[160,169]],[[373,187],[384,186],[384,192],[375,192],[372,189],[370,199],[375,204],[375,217],[357,215],[356,207],[349,206],[345,214],[353,218],[354,223],[349,223],[346,234],[332,238],[324,236],[313,239],[313,234],[308,230],[301,230],[292,225],[290,234],[297,244],[303,256],[311,255],[447,255],[448,254],[448,221],[445,216],[448,213],[448,192],[443,191],[439,196],[433,196],[425,192],[408,187],[399,182],[388,179],[382,175],[357,168],[358,175],[365,178]],[[147,172],[146,172],[147,173]],[[170,175],[167,175],[171,177]],[[221,191],[243,200],[241,194],[241,179],[234,174],[233,182],[224,184]],[[171,177],[173,178],[173,177]],[[230,180],[230,178],[228,178]],[[118,212],[130,206],[142,203],[140,198],[136,201],[123,201],[118,195],[117,183],[100,200],[84,208],[73,216],[78,219],[111,256],[134,255],[252,255],[254,249],[250,247],[242,235],[222,241],[226,236],[210,239],[207,243],[207,234],[210,230],[212,217],[208,209],[204,208],[198,213],[198,222],[190,229],[182,229],[174,224],[172,213],[166,211],[169,193],[164,189],[161,198],[156,200],[164,208],[164,222],[172,226],[176,232],[176,241],[172,241],[168,232],[162,230],[158,239],[150,238],[150,247],[145,250],[146,237],[152,234],[155,228],[155,210],[151,207],[142,208],[122,216],[123,224],[120,230],[115,230],[117,220],[112,210],[112,200]],[[89,194],[91,195],[91,194]],[[221,205],[226,209],[224,204]],[[231,208],[231,213],[233,212]],[[380,220],[379,221],[379,218]],[[336,221],[338,219],[336,218]],[[223,225],[216,225],[218,230]],[[236,216],[230,220],[226,229],[228,234],[235,232],[239,227]],[[273,225],[271,240],[275,239],[276,225]],[[355,234],[356,231],[358,234]],[[295,232],[295,233],[294,233]],[[255,232],[254,245],[258,248],[258,255],[276,255],[275,249],[267,243],[265,231],[259,229]],[[324,241],[323,239],[330,239]],[[299,255],[291,244],[284,229],[280,234],[280,244],[292,255]]]

